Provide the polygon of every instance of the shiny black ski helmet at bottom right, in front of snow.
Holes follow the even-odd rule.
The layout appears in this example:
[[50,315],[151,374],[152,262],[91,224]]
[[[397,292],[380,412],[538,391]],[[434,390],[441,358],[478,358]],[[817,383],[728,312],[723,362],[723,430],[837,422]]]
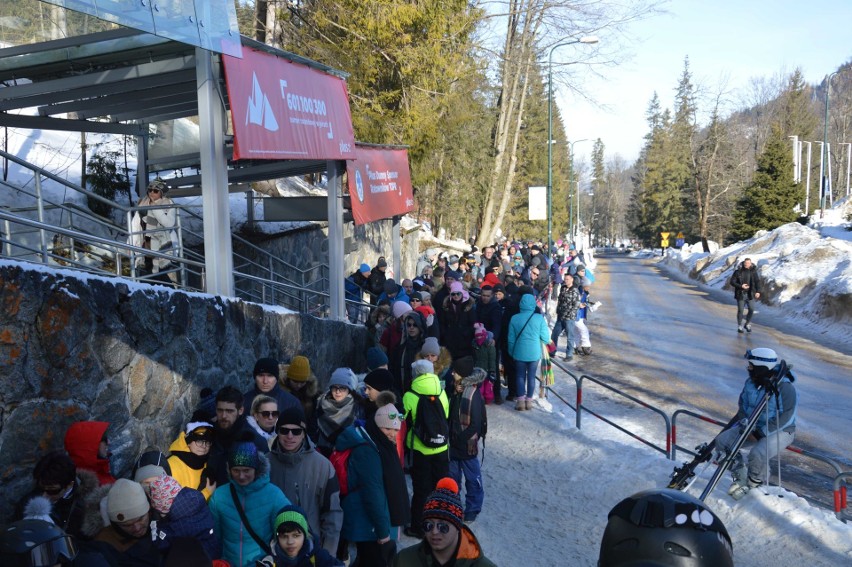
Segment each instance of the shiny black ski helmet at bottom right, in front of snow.
[[646,490],[610,510],[598,567],[733,567],[731,537],[704,502]]

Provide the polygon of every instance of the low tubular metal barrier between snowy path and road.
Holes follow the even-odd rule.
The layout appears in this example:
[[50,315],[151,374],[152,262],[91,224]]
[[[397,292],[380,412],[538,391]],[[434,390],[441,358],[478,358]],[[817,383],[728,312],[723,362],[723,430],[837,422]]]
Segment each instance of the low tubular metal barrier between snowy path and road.
[[[671,418],[669,418],[668,415],[663,410],[661,410],[660,408],[657,408],[657,407],[655,407],[655,406],[653,406],[653,405],[651,405],[651,404],[649,404],[649,403],[647,403],[643,400],[640,400],[639,398],[636,398],[635,396],[632,396],[632,395],[630,395],[626,392],[623,392],[623,391],[619,390],[618,388],[616,388],[616,387],[614,387],[610,384],[606,384],[606,383],[602,382],[601,380],[598,380],[598,379],[596,379],[592,376],[589,376],[587,374],[583,374],[578,378],[573,372],[571,372],[568,368],[565,367],[564,364],[560,363],[558,360],[552,359],[552,362],[562,372],[564,372],[565,374],[567,374],[569,377],[571,377],[574,380],[574,383],[575,383],[575,386],[576,386],[576,405],[572,405],[569,400],[567,400],[565,397],[563,397],[558,392],[556,392],[553,389],[552,386],[548,386],[546,388],[547,392],[548,392],[548,394],[554,395],[559,400],[561,400],[563,403],[565,403],[565,405],[567,405],[572,410],[574,410],[574,412],[576,413],[577,429],[582,429],[582,412],[586,411],[587,413],[597,417],[598,419],[600,419],[604,423],[618,429],[622,433],[632,437],[633,439],[636,439],[637,441],[643,443],[644,445],[647,445],[647,446],[651,447],[652,449],[655,449],[655,450],[665,454],[666,457],[669,458],[670,460],[676,460],[678,449],[680,449],[681,451],[688,453],[692,456],[694,456],[696,454],[694,451],[691,451],[691,450],[689,450],[685,447],[681,447],[677,444],[677,422],[678,422],[679,416],[694,417],[696,419],[699,419],[701,421],[705,421],[705,422],[708,422],[708,423],[712,423],[714,425],[724,426],[724,425],[727,424],[727,422],[725,422],[725,421],[720,421],[716,418],[706,416],[706,415],[703,415],[703,414],[700,414],[700,413],[696,413],[696,412],[693,412],[693,411],[687,410],[687,409],[677,409],[672,413]],[[625,427],[622,427],[621,425],[619,425],[619,424],[615,423],[614,421],[608,419],[607,417],[603,416],[599,412],[592,410],[591,408],[588,407],[588,405],[583,403],[583,382],[585,382],[585,381],[590,381],[590,382],[593,382],[593,383],[595,383],[599,386],[602,386],[606,390],[618,395],[620,398],[630,400],[630,401],[636,403],[637,405],[639,405],[640,407],[648,409],[648,410],[652,411],[653,413],[662,416],[663,420],[665,421],[665,424],[666,424],[666,432],[665,432],[666,447],[665,447],[665,449],[663,449],[661,446],[655,444],[654,442],[652,442],[650,440],[644,439],[644,438],[640,437],[639,435],[636,435],[632,431],[630,431],[630,430],[626,429]],[[834,494],[833,494],[834,513],[835,513],[835,516],[838,519],[840,519],[843,522],[846,522],[847,519],[849,518],[848,503],[847,503],[847,485],[848,485],[847,479],[852,479],[852,471],[844,471],[841,468],[841,466],[838,464],[838,462],[836,460],[832,459],[831,457],[827,457],[825,455],[821,455],[819,453],[815,453],[813,451],[803,449],[801,447],[796,447],[795,445],[790,445],[789,447],[787,447],[787,450],[790,451],[790,452],[802,455],[804,457],[822,462],[822,463],[828,465],[829,467],[831,467],[832,469],[834,469],[834,471],[836,473],[836,475],[834,477],[834,487],[833,487],[833,491],[834,491]],[[779,479],[779,483],[780,483],[780,479]]]

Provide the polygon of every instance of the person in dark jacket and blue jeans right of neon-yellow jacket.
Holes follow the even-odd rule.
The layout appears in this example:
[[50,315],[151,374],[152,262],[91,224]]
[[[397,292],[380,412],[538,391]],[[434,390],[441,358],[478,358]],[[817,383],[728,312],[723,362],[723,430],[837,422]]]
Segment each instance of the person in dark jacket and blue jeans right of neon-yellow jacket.
[[470,357],[453,363],[454,391],[450,397],[450,476],[461,486],[464,476],[464,521],[473,522],[482,511],[485,490],[479,462],[479,440],[485,438],[487,415],[480,385],[485,370],[474,368]]

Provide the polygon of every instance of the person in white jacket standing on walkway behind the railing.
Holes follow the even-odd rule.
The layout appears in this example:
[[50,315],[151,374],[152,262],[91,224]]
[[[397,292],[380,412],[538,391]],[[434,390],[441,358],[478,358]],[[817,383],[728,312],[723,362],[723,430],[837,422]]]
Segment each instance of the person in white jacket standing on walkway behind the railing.
[[[174,201],[165,196],[166,183],[160,179],[154,179],[148,184],[146,195],[137,203],[138,207],[156,205],[174,205]],[[157,208],[150,210],[139,210],[133,215],[130,224],[129,244],[140,248],[149,248],[157,252],[174,254],[177,251],[177,235],[174,230],[177,210],[174,208]],[[145,256],[137,256],[136,269],[145,265]],[[153,258],[151,273],[157,274],[166,269],[171,261],[166,258]],[[177,283],[177,273],[169,272],[169,279]]]

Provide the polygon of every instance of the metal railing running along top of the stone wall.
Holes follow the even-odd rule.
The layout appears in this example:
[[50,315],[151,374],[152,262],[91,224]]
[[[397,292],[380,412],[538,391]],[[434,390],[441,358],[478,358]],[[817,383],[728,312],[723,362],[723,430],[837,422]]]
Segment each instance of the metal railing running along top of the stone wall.
[[[193,208],[178,204],[125,206],[7,152],[0,151],[0,158],[30,174],[19,184],[0,181],[0,187],[17,192],[32,203],[25,207],[0,207],[0,254],[27,262],[204,291],[204,255],[192,248],[193,245],[203,248],[204,235],[192,228],[203,225],[203,218]],[[51,201],[43,190],[45,182],[56,184],[66,194],[71,192],[108,207],[113,211],[113,218],[102,217],[67,200]],[[144,215],[158,208],[176,210],[173,227],[134,230],[134,215]],[[115,218],[122,218],[124,222],[120,224]],[[140,246],[145,236],[158,233],[169,235],[161,240],[173,241],[168,252],[158,253]],[[232,242],[237,297],[321,317],[329,313],[327,265],[316,264],[303,269],[238,235],[232,235]],[[168,265],[151,270],[154,273],[143,269],[155,260]]]

